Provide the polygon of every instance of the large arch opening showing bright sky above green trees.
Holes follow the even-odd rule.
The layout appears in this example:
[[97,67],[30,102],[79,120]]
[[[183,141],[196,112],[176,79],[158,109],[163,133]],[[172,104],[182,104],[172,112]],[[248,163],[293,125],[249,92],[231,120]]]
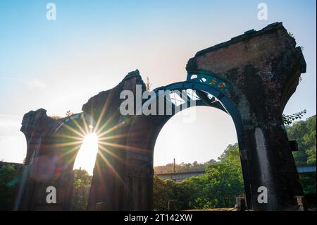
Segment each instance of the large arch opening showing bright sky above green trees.
[[[196,119],[184,123],[190,114]],[[216,190],[220,185],[223,190]],[[198,106],[180,111],[164,124],[154,147],[154,210],[231,209],[242,194],[237,134],[230,115]]]

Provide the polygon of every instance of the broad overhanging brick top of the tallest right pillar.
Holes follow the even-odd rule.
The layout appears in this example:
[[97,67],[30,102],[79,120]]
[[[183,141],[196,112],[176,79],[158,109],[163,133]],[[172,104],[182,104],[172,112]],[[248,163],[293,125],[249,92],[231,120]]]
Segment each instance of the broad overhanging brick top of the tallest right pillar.
[[[271,120],[281,116],[306,69],[302,51],[295,47],[282,23],[275,23],[197,52],[187,71],[212,71],[235,84],[228,95],[244,111],[242,117],[256,114]],[[285,85],[288,80],[292,83]]]

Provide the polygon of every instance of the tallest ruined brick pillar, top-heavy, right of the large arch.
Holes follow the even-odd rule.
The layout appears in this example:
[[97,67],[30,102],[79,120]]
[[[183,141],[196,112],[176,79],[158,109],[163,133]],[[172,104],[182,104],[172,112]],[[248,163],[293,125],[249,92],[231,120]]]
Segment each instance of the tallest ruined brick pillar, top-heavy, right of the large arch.
[[[242,166],[249,177],[248,203],[255,210],[294,209],[302,187],[294,164],[282,112],[296,90],[306,63],[294,38],[282,23],[250,30],[228,42],[197,52],[187,71],[216,73],[228,80],[227,92],[243,122]],[[260,186],[268,189],[268,204],[259,204]],[[248,197],[248,196],[247,196]]]

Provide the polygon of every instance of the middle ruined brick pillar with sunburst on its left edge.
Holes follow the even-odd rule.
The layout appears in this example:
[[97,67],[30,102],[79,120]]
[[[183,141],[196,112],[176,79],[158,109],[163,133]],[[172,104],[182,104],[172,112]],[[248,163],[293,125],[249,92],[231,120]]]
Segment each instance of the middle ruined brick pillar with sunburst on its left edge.
[[99,138],[89,210],[123,210],[127,207],[123,193],[128,188],[125,174],[131,163],[127,161],[131,148],[125,145],[125,140],[132,116],[120,114],[120,104],[124,101],[120,99],[120,93],[130,90],[135,97],[136,85],[142,87],[142,92],[146,89],[139,71],[132,71],[116,87],[99,92],[82,106],[82,111],[97,121],[95,131]]

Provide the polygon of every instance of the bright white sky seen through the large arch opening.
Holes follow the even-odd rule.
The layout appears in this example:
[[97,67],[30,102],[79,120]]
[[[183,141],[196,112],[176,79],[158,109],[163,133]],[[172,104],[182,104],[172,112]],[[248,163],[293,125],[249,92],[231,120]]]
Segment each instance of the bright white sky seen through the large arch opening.
[[[196,115],[196,119],[185,123],[186,115],[180,113],[163,126],[154,148],[155,165],[172,163],[173,158],[176,163],[207,162],[217,159],[228,143],[237,142],[235,125],[225,112],[211,107],[194,107],[186,111]],[[221,141],[224,139],[225,142]]]

